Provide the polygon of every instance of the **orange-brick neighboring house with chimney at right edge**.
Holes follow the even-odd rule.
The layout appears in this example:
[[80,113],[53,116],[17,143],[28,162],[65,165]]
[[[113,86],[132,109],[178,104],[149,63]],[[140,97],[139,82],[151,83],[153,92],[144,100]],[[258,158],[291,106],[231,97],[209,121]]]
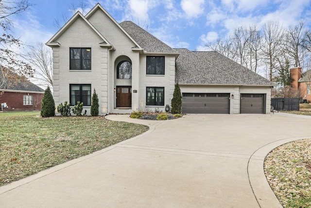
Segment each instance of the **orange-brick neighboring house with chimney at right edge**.
[[311,102],[311,70],[302,73],[301,67],[290,69],[290,76],[292,77],[292,87],[299,90],[302,99]]

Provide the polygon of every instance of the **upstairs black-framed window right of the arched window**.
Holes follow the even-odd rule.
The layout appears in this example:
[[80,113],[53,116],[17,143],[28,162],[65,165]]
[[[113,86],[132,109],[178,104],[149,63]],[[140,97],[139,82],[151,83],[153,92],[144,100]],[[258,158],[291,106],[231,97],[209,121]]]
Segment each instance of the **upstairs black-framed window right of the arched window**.
[[164,75],[165,57],[147,56],[147,75]]

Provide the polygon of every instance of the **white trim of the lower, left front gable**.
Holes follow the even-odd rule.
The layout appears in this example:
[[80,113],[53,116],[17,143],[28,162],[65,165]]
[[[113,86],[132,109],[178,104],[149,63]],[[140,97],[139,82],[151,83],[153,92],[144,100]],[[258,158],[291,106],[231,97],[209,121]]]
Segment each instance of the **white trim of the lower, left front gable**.
[[100,46],[113,47],[108,40],[104,38],[104,36],[78,11],[69,21],[46,43],[48,46],[60,46],[57,42],[57,38],[59,38],[77,19],[83,19],[86,24],[94,30],[94,32],[103,40],[99,43]]

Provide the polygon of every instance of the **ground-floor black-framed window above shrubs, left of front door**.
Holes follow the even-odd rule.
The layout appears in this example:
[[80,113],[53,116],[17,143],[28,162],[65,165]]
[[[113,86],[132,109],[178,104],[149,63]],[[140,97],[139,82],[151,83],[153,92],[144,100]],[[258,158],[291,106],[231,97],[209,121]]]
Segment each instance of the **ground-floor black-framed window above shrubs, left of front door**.
[[84,106],[91,105],[91,85],[90,84],[70,84],[70,105],[76,105],[78,101]]

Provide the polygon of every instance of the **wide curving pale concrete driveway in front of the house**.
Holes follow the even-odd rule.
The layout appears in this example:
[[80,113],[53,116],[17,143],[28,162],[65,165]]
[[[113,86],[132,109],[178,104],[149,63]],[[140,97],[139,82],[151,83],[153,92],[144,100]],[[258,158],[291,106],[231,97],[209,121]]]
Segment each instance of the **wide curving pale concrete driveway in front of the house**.
[[277,146],[310,138],[311,117],[188,114],[142,135],[0,187],[0,207],[281,207],[263,173]]

